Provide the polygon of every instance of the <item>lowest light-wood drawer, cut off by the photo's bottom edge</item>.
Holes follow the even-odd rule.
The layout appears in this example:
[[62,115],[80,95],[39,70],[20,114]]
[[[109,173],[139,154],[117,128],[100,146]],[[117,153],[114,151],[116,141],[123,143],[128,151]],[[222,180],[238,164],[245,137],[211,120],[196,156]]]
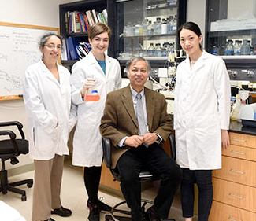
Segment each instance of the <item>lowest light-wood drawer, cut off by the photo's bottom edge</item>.
[[256,213],[213,201],[209,221],[256,221]]

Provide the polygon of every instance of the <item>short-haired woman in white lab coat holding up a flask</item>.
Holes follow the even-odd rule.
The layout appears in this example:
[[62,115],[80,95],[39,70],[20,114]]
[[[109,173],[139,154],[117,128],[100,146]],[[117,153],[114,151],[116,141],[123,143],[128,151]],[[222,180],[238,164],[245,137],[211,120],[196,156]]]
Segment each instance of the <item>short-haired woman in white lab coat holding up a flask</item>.
[[[106,94],[121,87],[121,68],[116,59],[106,55],[111,31],[106,24],[96,23],[89,30],[91,52],[72,67],[72,102],[77,105],[77,124],[73,140],[72,164],[84,167],[90,221],[99,220],[99,212],[111,207],[98,200],[102,167],[100,120]],[[93,79],[92,79],[93,78]],[[86,101],[88,90],[98,90],[98,101]]]

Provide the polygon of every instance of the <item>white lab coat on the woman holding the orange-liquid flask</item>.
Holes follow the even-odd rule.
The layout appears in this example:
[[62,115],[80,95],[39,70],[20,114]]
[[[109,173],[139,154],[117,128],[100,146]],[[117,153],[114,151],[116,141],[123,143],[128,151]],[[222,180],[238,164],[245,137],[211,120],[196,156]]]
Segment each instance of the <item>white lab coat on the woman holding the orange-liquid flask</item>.
[[[94,75],[98,101],[83,101],[80,89],[87,75]],[[90,52],[72,67],[72,103],[77,105],[77,124],[73,138],[72,164],[82,167],[102,165],[102,136],[99,125],[106,94],[121,87],[121,68],[116,59],[106,56],[106,75]]]

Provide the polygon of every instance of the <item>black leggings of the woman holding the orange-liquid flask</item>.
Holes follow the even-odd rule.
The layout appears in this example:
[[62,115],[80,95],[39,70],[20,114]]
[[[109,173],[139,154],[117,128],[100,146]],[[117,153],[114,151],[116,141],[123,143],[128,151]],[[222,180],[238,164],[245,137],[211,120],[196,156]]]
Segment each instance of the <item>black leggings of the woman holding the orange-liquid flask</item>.
[[98,203],[98,186],[102,174],[102,167],[85,167],[84,168],[84,184],[88,194],[88,200],[91,204]]

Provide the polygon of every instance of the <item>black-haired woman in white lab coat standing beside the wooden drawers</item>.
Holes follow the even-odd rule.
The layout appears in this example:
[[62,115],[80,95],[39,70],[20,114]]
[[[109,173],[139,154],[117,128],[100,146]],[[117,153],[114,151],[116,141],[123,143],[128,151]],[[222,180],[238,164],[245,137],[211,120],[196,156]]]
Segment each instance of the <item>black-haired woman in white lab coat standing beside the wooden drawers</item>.
[[183,216],[192,220],[197,183],[198,221],[206,221],[213,201],[212,170],[221,168],[221,144],[229,145],[230,84],[224,61],[202,50],[197,24],[187,22],[178,33],[187,53],[176,72],[174,112]]

